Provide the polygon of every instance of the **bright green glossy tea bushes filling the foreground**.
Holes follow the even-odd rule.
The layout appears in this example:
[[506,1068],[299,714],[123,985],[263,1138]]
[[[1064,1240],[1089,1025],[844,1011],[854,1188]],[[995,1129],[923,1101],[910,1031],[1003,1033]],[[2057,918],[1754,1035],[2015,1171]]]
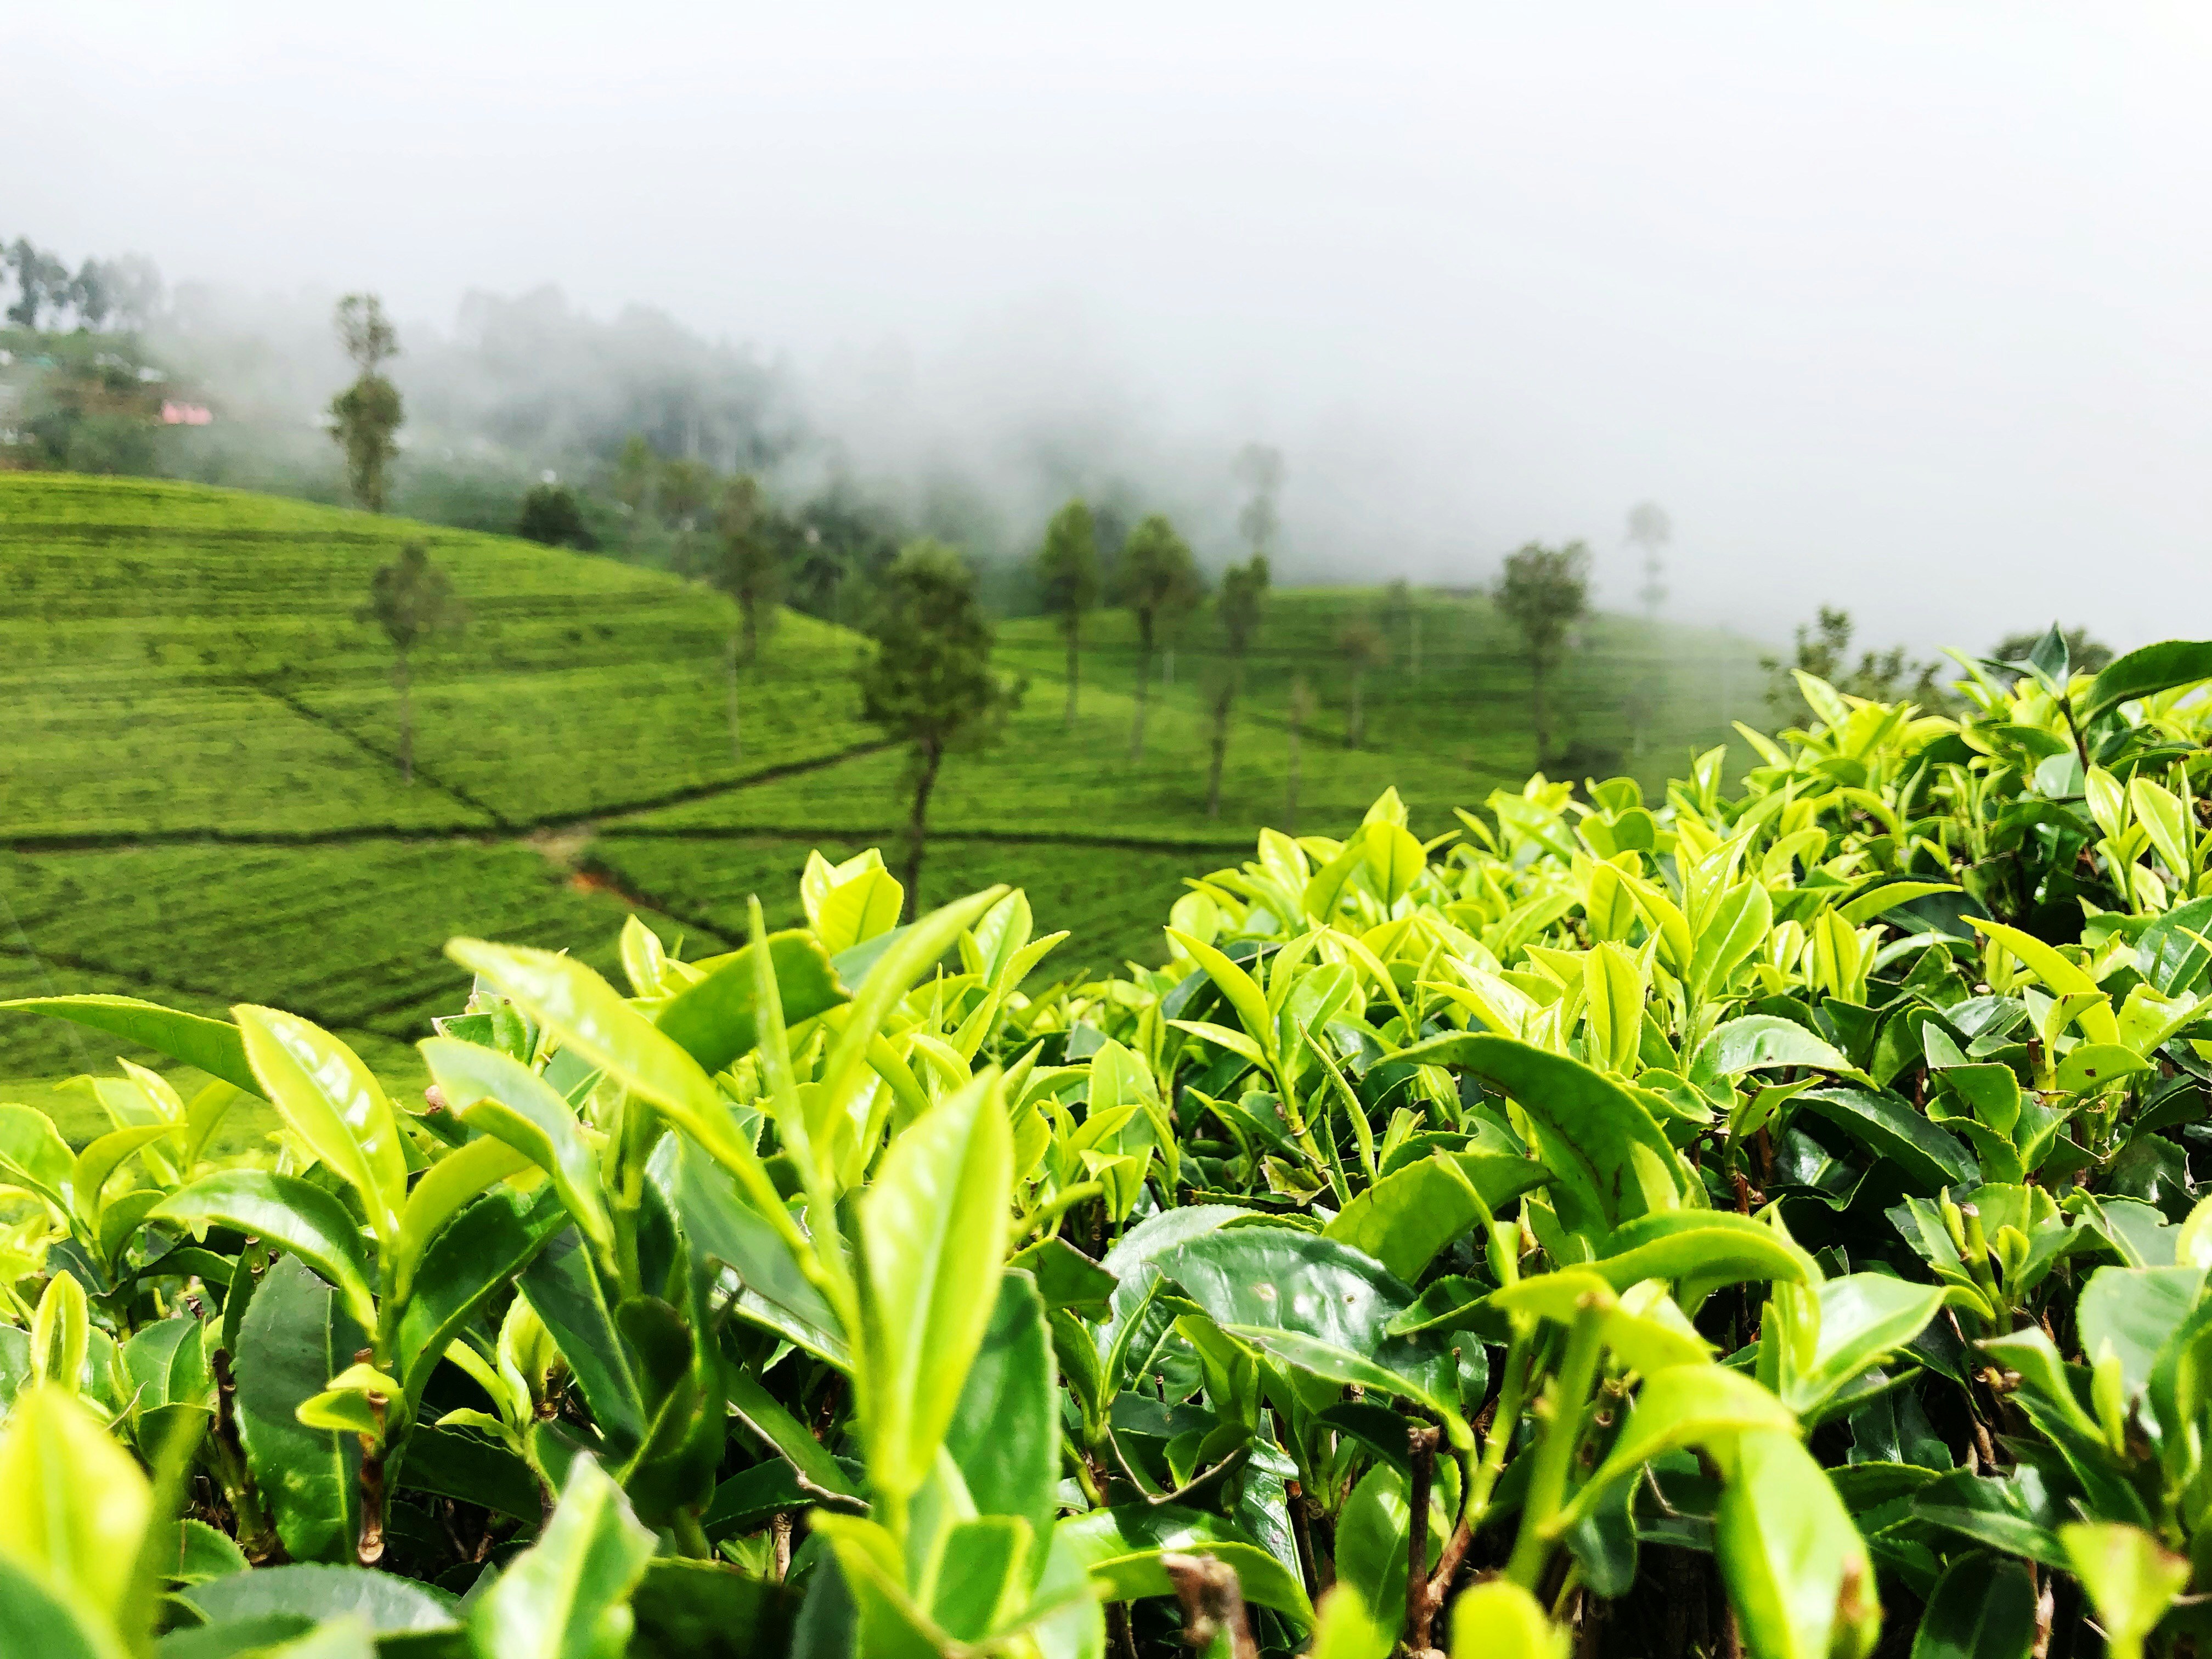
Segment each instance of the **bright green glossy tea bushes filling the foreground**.
[[[1964,717],[1803,677],[1734,792],[1263,832],[1053,980],[874,852],[453,940],[338,1037],[0,1108],[40,1652],[1774,1657],[2201,1641],[2212,644]],[[270,1150],[208,1157],[243,1102]],[[292,1646],[283,1646],[292,1644]]]

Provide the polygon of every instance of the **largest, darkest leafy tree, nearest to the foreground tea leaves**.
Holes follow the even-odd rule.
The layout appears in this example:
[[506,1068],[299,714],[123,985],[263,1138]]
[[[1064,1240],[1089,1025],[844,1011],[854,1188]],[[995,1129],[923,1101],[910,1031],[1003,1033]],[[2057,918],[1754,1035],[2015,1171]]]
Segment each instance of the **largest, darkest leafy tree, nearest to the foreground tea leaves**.
[[991,622],[975,573],[942,542],[909,544],[885,571],[860,659],[860,714],[907,750],[907,916],[922,914],[929,794],[947,752],[987,743],[1020,688],[991,672]]

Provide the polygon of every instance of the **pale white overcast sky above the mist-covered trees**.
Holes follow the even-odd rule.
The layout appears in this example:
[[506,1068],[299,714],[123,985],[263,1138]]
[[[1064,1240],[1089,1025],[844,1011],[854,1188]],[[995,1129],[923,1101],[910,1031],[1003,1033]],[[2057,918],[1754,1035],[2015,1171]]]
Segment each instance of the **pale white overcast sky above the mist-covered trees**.
[[[1290,551],[1626,509],[1670,611],[2212,633],[2212,24],[2181,4],[0,13],[0,232],[449,321],[557,283],[865,425],[1290,458]],[[885,376],[885,365],[894,372]]]

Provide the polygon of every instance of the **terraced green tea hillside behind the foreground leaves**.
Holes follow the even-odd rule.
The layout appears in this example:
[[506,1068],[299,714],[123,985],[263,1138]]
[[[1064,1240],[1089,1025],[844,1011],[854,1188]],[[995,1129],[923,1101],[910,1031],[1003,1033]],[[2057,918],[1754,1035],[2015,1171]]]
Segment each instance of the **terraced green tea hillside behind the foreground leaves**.
[[[420,540],[467,628],[416,653],[416,781],[394,761],[392,650],[356,611]],[[613,967],[635,909],[728,940],[748,894],[796,916],[796,874],[885,841],[902,761],[856,714],[854,635],[787,613],[739,684],[732,608],[615,560],[239,491],[0,476],[0,995],[119,991],[219,1011],[276,1000],[411,1071],[405,1044],[465,993],[456,931],[571,945]],[[1004,741],[949,761],[925,891],[1020,880],[1062,971],[1157,951],[1181,878],[1287,810],[1338,830],[1396,785],[1427,832],[1531,763],[1526,672],[1482,602],[1425,597],[1422,664],[1369,677],[1369,741],[1343,741],[1334,635],[1371,593],[1274,595],[1239,703],[1219,818],[1203,812],[1201,619],[1130,761],[1133,648],[1099,617],[1073,730],[1057,635],[1013,622],[1031,677]],[[1659,779],[1756,712],[1752,646],[1601,617],[1562,688],[1597,770]],[[1405,641],[1409,644],[1409,641]],[[1630,710],[1644,710],[1632,730]],[[1637,745],[1641,743],[1641,752]],[[115,1053],[0,1015],[9,1097]]]

